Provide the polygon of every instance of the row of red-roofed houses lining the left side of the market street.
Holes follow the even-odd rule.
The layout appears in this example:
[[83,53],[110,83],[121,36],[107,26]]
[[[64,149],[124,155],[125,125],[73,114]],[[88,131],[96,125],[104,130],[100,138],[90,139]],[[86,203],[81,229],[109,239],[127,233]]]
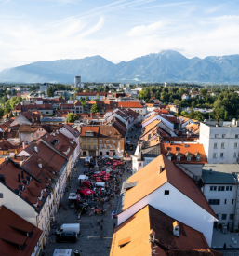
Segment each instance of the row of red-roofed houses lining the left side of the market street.
[[1,253],[34,256],[46,244],[50,222],[72,178],[80,133],[67,124],[17,127],[14,144],[0,142],[7,149],[0,158]]

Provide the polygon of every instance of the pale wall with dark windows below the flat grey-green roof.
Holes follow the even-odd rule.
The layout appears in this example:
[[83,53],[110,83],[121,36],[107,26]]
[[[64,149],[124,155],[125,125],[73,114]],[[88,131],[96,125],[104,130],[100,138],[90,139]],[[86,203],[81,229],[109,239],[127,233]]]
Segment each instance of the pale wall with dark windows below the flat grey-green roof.
[[[218,191],[218,189],[217,191],[210,191],[210,186],[232,186],[232,191]],[[211,208],[218,214],[218,219],[221,223],[228,223],[230,221],[230,214],[234,215],[235,213],[236,188],[236,185],[233,184],[206,184],[202,188],[207,201],[209,199],[220,200],[219,205],[211,205]],[[226,220],[222,220],[222,214],[227,214]]]

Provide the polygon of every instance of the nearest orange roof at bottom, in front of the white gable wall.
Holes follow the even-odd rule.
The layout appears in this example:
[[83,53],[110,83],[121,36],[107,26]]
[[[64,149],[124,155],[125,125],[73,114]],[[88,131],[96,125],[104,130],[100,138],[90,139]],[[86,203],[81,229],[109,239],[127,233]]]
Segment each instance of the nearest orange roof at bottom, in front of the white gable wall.
[[[153,250],[158,255],[171,255],[167,253],[177,249],[209,249],[205,236],[182,222],[177,221],[179,237],[174,236],[175,222],[162,211],[145,206],[115,229],[110,256],[153,255]],[[150,234],[153,234],[155,242]]]

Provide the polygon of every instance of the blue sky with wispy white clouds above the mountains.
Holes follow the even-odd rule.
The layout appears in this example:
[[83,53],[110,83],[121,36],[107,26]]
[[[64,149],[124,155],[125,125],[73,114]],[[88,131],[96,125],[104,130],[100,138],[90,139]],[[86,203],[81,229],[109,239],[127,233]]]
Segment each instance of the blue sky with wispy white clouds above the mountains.
[[0,70],[165,49],[188,58],[239,53],[239,1],[0,0]]

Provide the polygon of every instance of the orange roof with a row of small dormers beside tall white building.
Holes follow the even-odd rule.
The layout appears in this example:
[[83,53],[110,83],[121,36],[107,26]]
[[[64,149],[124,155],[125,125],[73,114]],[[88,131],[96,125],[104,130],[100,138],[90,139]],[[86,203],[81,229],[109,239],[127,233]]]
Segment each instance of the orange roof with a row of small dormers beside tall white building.
[[[207,164],[205,149],[203,144],[186,144],[186,143],[161,143],[161,153],[166,155],[168,152],[172,155],[172,162],[174,163],[185,163],[185,164]],[[191,161],[187,161],[186,153],[192,155]],[[195,154],[200,154],[200,161],[196,161]],[[180,161],[177,161],[176,154],[180,154]]]

